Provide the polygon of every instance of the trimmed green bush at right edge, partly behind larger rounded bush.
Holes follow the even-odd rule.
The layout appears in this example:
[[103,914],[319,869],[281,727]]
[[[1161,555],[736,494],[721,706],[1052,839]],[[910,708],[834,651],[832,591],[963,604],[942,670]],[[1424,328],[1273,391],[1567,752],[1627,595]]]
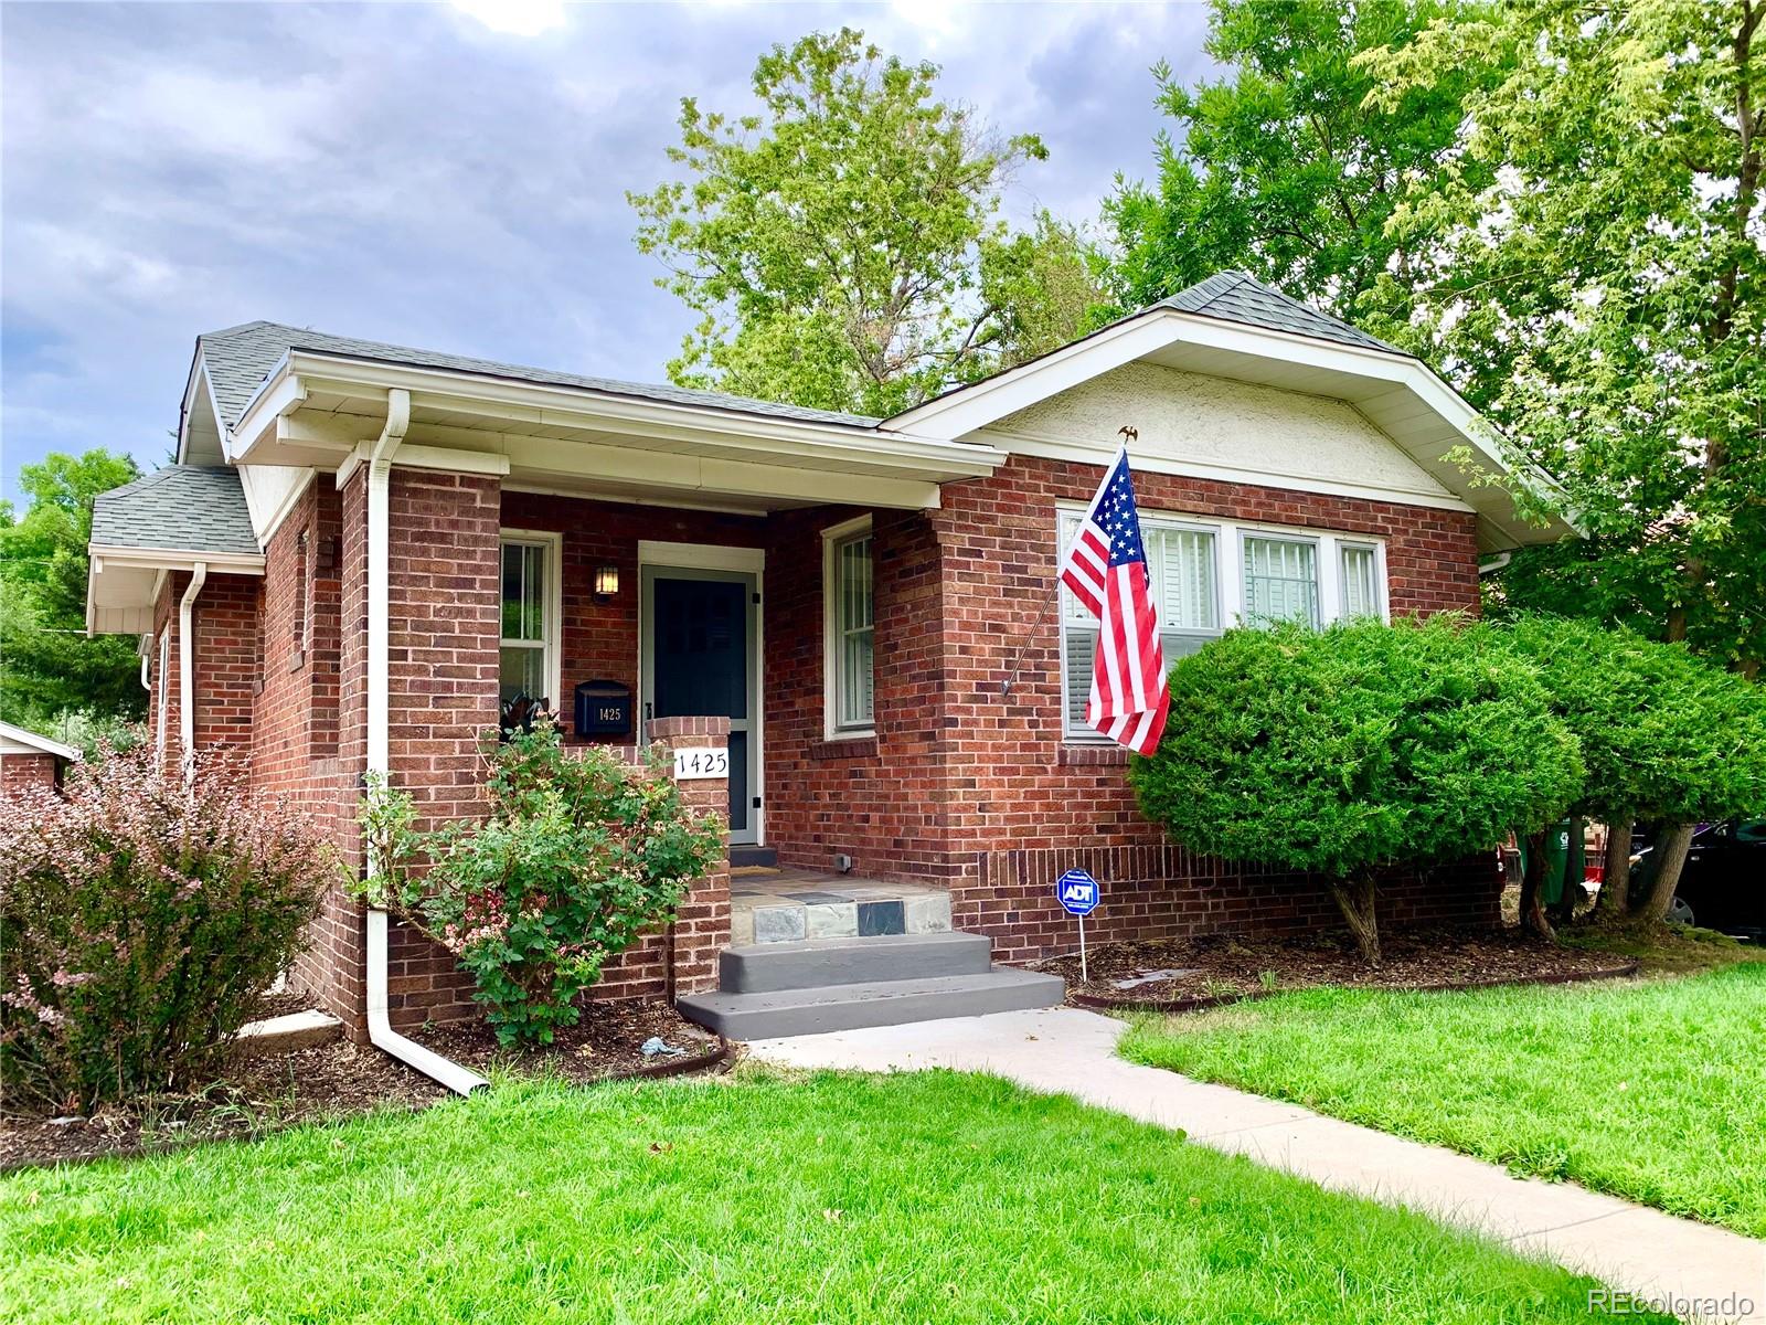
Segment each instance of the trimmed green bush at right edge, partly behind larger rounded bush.
[[[1630,910],[1637,820],[1672,825],[1658,850],[1685,855],[1690,825],[1766,806],[1766,694],[1759,687],[1685,645],[1591,622],[1528,615],[1503,638],[1538,668],[1552,712],[1581,744],[1588,776],[1574,811],[1605,822],[1609,832],[1604,919]],[[1667,915],[1678,876],[1678,869],[1657,871],[1660,887],[1641,908],[1644,919]]]

